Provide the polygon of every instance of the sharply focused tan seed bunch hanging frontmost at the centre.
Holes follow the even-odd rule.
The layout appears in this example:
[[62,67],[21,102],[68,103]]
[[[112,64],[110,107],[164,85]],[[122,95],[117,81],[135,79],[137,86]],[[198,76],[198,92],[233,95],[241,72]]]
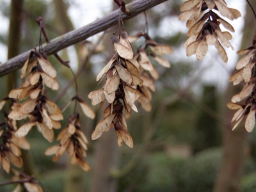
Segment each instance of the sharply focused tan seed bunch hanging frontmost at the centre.
[[137,61],[132,60],[133,52],[127,37],[125,29],[120,33],[120,38],[114,34],[112,41],[115,54],[97,76],[97,81],[106,76],[105,84],[100,90],[93,91],[88,95],[93,105],[100,103],[100,108],[105,100],[109,103],[104,110],[104,118],[100,120],[92,133],[92,140],[96,140],[102,132],[114,127],[120,147],[123,141],[129,147],[133,147],[132,138],[127,131],[123,108],[125,108],[127,116],[130,115],[131,109],[138,112],[134,101],[140,96],[140,92],[132,86],[141,86],[143,83],[136,67],[138,66]]

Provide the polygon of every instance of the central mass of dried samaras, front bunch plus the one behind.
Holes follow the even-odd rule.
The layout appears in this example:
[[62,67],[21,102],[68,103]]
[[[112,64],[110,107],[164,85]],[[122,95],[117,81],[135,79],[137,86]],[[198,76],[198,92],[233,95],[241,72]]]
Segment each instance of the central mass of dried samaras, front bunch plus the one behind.
[[[136,40],[140,36],[146,38],[146,46],[140,47],[134,56],[129,40]],[[108,101],[108,106],[104,109],[104,118],[100,120],[93,131],[92,140],[96,140],[102,132],[114,127],[118,145],[121,147],[125,142],[129,147],[133,147],[132,138],[127,131],[123,108],[129,117],[131,109],[138,112],[134,105],[134,102],[138,100],[142,108],[146,111],[151,110],[151,91],[154,92],[156,89],[153,79],[158,79],[159,74],[148,56],[152,56],[164,67],[170,67],[170,63],[160,56],[170,54],[173,50],[168,45],[157,44],[145,33],[128,38],[124,29],[120,38],[114,35],[112,40],[115,54],[97,76],[97,81],[106,76],[105,84],[100,90],[93,91],[88,95],[92,99],[93,105],[100,103],[100,109],[104,101]],[[148,47],[151,52],[147,52]]]

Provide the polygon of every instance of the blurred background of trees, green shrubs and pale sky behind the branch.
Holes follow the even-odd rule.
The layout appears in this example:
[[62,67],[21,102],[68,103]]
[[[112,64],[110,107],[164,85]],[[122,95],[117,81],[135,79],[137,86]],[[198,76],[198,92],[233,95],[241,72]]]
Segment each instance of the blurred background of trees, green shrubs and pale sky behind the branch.
[[[243,123],[231,131],[234,111],[226,107],[242,88],[228,83],[228,77],[239,60],[236,51],[252,45],[254,15],[246,1],[227,0],[228,7],[242,13],[237,20],[228,20],[236,29],[230,40],[235,51],[226,49],[228,63],[223,63],[216,49],[209,46],[205,58],[197,61],[195,55],[188,58],[183,47],[188,29],[186,22],[177,20],[182,2],[166,1],[146,12],[150,37],[159,44],[172,46],[174,52],[164,57],[170,61],[171,68],[155,65],[160,78],[155,82],[152,110],[148,113],[136,103],[138,113],[132,112],[127,120],[134,148],[118,147],[113,129],[104,132],[98,140],[90,139],[95,125],[102,119],[99,105],[92,106],[97,114],[95,120],[84,117],[83,113],[80,115],[81,127],[89,139],[86,161],[92,167],[91,172],[70,164],[67,155],[53,163],[52,157],[45,156],[44,152],[58,141],[49,143],[34,128],[27,136],[31,150],[22,151],[22,171],[35,175],[44,191],[256,191],[256,133],[247,134]],[[255,8],[256,1],[251,3]],[[117,9],[111,0],[0,0],[0,4],[2,63],[36,47],[40,29],[35,20],[39,16],[51,40]],[[18,18],[14,33],[9,30],[13,17]],[[134,35],[145,28],[145,15],[141,13],[124,24],[127,33]],[[102,87],[95,79],[114,52],[111,42],[114,32],[115,28],[111,28],[104,36],[99,33],[88,38],[90,44],[81,42],[59,52],[61,58],[70,60],[70,66],[77,72],[86,60],[86,52],[102,38],[99,49],[77,79],[79,95],[88,104],[91,103],[88,94]],[[141,44],[143,40],[132,44],[134,52]],[[47,90],[53,100],[72,74],[54,56],[49,56],[49,60],[58,72],[60,84],[58,92]],[[0,85],[1,98],[20,85],[19,77],[20,70],[1,77],[4,82]],[[63,108],[74,95],[75,86],[71,86],[61,94],[58,106]],[[62,127],[68,124],[72,111],[70,106],[63,113]],[[56,135],[60,132],[54,131]],[[8,175],[1,170],[0,182],[11,178],[12,173]],[[3,186],[0,191],[14,188],[15,185]]]

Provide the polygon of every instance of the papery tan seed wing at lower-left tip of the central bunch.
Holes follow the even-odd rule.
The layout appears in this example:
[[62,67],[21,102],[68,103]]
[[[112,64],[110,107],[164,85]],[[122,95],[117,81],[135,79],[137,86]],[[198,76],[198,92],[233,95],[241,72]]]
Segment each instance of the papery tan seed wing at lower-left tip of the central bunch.
[[97,140],[102,134],[102,132],[108,129],[109,125],[111,125],[113,118],[115,117],[116,113],[112,113],[112,115],[108,115],[104,117],[100,122],[96,125],[95,130],[92,133],[92,140]]

